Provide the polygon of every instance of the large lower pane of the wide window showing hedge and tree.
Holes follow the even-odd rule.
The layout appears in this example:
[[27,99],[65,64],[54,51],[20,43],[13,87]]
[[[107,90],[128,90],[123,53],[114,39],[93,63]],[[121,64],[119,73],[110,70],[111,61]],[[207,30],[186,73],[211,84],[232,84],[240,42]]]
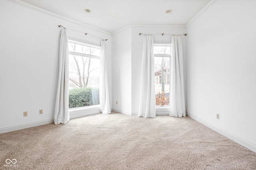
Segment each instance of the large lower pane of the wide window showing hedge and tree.
[[100,59],[69,55],[69,108],[100,104]]

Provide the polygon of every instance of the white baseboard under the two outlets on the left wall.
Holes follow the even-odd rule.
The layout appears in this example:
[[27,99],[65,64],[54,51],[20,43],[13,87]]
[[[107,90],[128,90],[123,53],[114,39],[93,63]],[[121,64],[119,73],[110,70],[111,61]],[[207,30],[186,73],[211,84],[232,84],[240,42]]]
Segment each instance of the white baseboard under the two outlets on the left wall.
[[54,123],[54,119],[35,121],[35,122],[31,122],[31,123],[24,123],[24,124],[21,124],[21,125],[3,127],[3,128],[0,128],[0,133],[17,131],[17,130],[20,130],[20,129],[26,129],[26,128],[29,128],[29,127],[35,127],[35,126],[45,125],[45,124],[49,124],[49,123]]

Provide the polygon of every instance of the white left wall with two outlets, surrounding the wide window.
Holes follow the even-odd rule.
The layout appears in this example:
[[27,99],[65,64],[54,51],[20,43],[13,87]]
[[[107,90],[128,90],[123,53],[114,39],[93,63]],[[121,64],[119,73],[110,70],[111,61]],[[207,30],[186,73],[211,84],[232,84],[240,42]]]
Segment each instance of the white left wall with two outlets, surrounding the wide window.
[[[52,122],[58,82],[60,24],[108,39],[111,87],[112,41],[109,33],[22,4],[0,1],[0,132]],[[100,39],[76,31],[68,30],[68,35],[100,44]],[[110,97],[111,94],[110,89]],[[44,113],[39,114],[39,109]],[[23,117],[23,111],[28,111],[27,117]]]

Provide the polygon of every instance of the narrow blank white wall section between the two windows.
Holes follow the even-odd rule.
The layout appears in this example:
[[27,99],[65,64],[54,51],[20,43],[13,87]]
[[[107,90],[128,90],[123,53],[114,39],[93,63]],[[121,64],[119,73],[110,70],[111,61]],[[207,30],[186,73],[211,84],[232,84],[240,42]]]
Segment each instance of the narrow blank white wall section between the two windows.
[[132,109],[131,45],[130,27],[112,35],[112,110],[128,115]]

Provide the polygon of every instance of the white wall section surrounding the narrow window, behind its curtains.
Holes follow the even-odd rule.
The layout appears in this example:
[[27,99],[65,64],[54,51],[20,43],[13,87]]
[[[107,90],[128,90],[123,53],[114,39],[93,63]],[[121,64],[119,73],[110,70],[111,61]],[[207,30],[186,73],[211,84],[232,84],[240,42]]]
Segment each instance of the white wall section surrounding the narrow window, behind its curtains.
[[[140,102],[144,35],[139,35],[139,33],[165,33],[166,35],[153,35],[154,43],[171,43],[172,35],[167,34],[184,34],[186,33],[186,28],[184,26],[132,26],[132,115],[138,115]],[[182,35],[182,45],[184,51],[184,68],[186,68],[186,36],[184,35]],[[186,72],[186,69],[184,70]],[[184,76],[186,79],[186,75]]]

